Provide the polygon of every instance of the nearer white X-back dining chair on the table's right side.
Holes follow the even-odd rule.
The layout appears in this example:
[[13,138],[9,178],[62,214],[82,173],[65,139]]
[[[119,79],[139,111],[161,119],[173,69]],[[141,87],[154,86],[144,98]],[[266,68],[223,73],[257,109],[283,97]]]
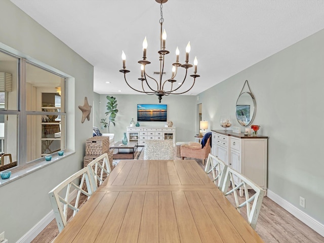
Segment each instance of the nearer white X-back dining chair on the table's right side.
[[[235,185],[234,177],[237,177]],[[229,189],[231,185],[231,188]],[[242,203],[239,203],[237,191],[242,187],[244,189],[245,194],[245,200]],[[252,196],[249,195],[249,190],[253,189],[254,194]],[[237,171],[231,169],[230,167],[227,167],[226,173],[225,173],[225,179],[224,184],[222,187],[222,191],[225,196],[228,196],[230,194],[234,195],[235,199],[235,208],[238,212],[240,212],[240,209],[244,206],[247,207],[247,218],[248,222],[251,225],[253,229],[255,229],[262,205],[262,200],[265,194],[265,190],[263,190],[261,187],[259,187],[257,184],[255,184],[253,181],[245,177],[244,175],[238,173]],[[250,190],[251,191],[251,190]],[[253,203],[252,203],[253,202]],[[251,208],[252,204],[252,208]]]

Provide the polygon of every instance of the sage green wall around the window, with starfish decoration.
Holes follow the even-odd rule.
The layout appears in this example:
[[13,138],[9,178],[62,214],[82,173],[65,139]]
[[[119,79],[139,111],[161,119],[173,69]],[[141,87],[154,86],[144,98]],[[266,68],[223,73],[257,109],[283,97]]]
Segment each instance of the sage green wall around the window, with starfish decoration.
[[0,187],[0,232],[16,242],[51,210],[48,192],[83,167],[92,120],[81,123],[85,97],[93,103],[93,66],[9,0],[0,1],[0,48],[45,63],[67,80],[67,144],[75,154]]

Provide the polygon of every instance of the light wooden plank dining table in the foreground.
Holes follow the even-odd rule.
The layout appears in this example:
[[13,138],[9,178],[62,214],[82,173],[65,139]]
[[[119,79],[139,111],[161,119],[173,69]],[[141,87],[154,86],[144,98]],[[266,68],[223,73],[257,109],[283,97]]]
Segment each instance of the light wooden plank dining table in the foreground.
[[121,160],[54,242],[263,242],[195,160]]

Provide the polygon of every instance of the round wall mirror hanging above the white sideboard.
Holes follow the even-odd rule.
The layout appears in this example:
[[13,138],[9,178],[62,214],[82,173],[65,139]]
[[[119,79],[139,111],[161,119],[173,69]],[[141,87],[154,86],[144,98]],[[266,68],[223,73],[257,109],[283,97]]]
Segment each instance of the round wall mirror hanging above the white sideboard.
[[257,104],[252,93],[244,92],[238,96],[236,101],[236,119],[239,125],[249,126],[256,114]]

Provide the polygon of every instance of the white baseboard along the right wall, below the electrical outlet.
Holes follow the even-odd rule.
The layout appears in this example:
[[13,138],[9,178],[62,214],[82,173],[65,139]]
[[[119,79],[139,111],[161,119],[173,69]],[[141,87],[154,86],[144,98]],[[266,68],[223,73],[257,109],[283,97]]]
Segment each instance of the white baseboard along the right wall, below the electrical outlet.
[[308,227],[315,230],[317,233],[319,233],[321,236],[324,236],[324,225],[318,222],[317,220],[310,217],[305,212],[301,211],[289,201],[285,200],[284,198],[278,196],[274,192],[267,190],[267,197],[269,197],[271,200],[273,200],[276,204],[278,204],[280,207],[287,210],[289,213],[294,215],[297,219],[302,221],[304,224],[306,224]]

